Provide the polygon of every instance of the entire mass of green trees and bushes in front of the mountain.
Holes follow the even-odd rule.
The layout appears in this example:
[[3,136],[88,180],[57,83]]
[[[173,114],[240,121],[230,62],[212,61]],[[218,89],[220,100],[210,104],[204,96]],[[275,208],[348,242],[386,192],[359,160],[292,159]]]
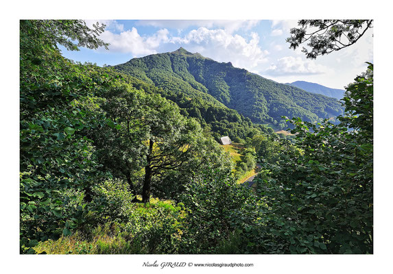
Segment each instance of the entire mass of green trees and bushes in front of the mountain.
[[[189,110],[240,117],[235,166],[176,92],[60,54],[105,47],[103,29],[21,21],[21,253],[372,253],[372,64],[340,123],[288,119],[293,140],[206,93]],[[237,179],[256,158],[252,191]]]

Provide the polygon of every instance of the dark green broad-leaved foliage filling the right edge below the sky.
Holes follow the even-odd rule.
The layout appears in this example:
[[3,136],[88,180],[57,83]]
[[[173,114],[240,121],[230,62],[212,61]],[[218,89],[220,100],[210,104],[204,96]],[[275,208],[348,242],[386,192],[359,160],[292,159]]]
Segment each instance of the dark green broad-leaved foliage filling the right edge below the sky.
[[300,151],[280,153],[271,178],[260,181],[270,207],[271,252],[373,252],[371,64],[368,69],[346,88],[340,125],[291,121]]

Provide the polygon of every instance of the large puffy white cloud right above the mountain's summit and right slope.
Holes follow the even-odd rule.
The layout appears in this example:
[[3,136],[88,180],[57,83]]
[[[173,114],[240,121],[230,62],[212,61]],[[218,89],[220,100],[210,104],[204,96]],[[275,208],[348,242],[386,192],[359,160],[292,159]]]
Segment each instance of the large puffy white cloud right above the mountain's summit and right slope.
[[248,70],[267,62],[266,55],[269,54],[259,47],[259,36],[254,32],[246,40],[224,29],[200,27],[182,37],[171,38],[171,42],[182,45],[188,51],[199,52],[219,62],[232,62],[234,66]]

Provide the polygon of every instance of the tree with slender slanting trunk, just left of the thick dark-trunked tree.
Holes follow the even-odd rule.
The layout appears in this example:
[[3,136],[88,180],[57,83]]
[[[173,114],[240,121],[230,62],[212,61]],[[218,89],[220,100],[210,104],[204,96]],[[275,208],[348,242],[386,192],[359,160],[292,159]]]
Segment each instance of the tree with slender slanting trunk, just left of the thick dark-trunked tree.
[[[99,110],[104,112],[106,123],[88,132],[95,141],[97,157],[104,171],[126,179],[136,197],[134,175],[143,166],[147,132],[141,123],[141,104],[145,94],[123,84],[113,86],[102,95],[106,97]],[[136,198],[135,198],[136,199]]]

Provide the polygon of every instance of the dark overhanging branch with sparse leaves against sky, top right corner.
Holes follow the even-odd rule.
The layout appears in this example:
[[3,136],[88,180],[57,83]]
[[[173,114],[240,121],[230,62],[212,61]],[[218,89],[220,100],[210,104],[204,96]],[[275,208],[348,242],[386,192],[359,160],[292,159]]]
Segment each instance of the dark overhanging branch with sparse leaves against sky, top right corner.
[[[315,59],[355,44],[372,28],[372,23],[372,20],[300,20],[300,28],[291,29],[287,42],[291,44],[290,49],[308,42],[311,51],[303,47],[302,52],[307,58]],[[309,33],[308,28],[311,28]]]

